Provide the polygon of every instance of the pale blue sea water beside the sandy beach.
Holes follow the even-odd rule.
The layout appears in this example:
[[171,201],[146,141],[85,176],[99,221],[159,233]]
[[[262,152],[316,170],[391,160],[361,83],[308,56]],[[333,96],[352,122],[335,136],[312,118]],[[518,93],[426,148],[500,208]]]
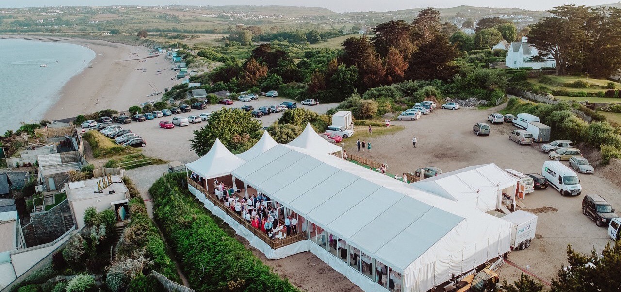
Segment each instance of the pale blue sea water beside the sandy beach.
[[42,120],[63,85],[93,58],[93,50],[72,43],[0,39],[0,135]]

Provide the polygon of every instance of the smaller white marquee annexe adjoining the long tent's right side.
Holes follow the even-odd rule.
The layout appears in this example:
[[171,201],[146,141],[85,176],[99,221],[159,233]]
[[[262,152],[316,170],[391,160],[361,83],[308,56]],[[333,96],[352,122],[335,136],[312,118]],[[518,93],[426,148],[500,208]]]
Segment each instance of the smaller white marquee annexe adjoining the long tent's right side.
[[412,185],[456,201],[466,208],[487,212],[502,209],[503,191],[515,197],[518,180],[490,163],[425,178]]

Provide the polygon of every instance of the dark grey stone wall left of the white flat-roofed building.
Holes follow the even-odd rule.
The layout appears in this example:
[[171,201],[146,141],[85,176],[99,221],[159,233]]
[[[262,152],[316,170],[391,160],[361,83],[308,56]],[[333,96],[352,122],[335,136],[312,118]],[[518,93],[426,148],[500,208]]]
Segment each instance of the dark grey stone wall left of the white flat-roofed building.
[[65,201],[50,209],[50,211],[30,214],[30,224],[32,224],[39,244],[53,242],[60,235],[65,234],[67,230],[65,229],[63,213],[71,213],[68,199],[65,199]]

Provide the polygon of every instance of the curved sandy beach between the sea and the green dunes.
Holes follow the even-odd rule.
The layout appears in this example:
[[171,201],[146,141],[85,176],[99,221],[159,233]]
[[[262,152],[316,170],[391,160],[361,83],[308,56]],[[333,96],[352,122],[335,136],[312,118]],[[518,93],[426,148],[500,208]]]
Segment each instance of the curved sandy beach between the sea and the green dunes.
[[161,99],[161,94],[147,97],[154,92],[149,83],[157,91],[164,91],[180,82],[171,80],[175,73],[164,55],[143,59],[150,56],[145,47],[101,40],[67,39],[62,42],[88,47],[96,57],[63,86],[58,101],[45,112],[45,119],[75,117],[102,109],[127,111],[130,106],[149,99]]

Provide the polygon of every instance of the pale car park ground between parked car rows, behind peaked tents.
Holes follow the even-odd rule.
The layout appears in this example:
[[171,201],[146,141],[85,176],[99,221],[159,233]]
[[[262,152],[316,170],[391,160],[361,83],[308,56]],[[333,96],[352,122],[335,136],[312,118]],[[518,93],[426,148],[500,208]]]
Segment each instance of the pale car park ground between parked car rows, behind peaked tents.
[[[184,127],[176,127],[173,129],[162,129],[159,127],[160,121],[171,121],[175,116],[198,116],[203,112],[212,112],[221,109],[222,107],[242,107],[245,105],[253,106],[258,109],[261,106],[273,106],[281,104],[283,101],[292,101],[285,98],[266,98],[260,97],[259,99],[243,102],[235,101],[234,104],[224,106],[222,104],[208,105],[206,109],[198,110],[193,109],[191,112],[182,112],[181,114],[173,114],[168,117],[160,117],[145,122],[132,122],[131,124],[121,125],[123,129],[130,129],[132,132],[138,134],[145,139],[147,145],[142,148],[142,153],[149,157],[161,158],[167,161],[179,161],[183,163],[193,162],[198,159],[198,156],[194,151],[190,149],[189,140],[194,138],[194,130],[200,129],[205,122],[198,124],[189,124]],[[296,101],[294,101],[296,102]],[[335,104],[319,104],[317,106],[302,106],[301,103],[296,102],[298,107],[303,107],[311,111],[318,113],[324,113],[328,109],[335,107]],[[273,124],[278,117],[282,116],[282,112],[269,114],[267,116],[258,117],[258,121],[263,123],[264,127],[268,127]]]

